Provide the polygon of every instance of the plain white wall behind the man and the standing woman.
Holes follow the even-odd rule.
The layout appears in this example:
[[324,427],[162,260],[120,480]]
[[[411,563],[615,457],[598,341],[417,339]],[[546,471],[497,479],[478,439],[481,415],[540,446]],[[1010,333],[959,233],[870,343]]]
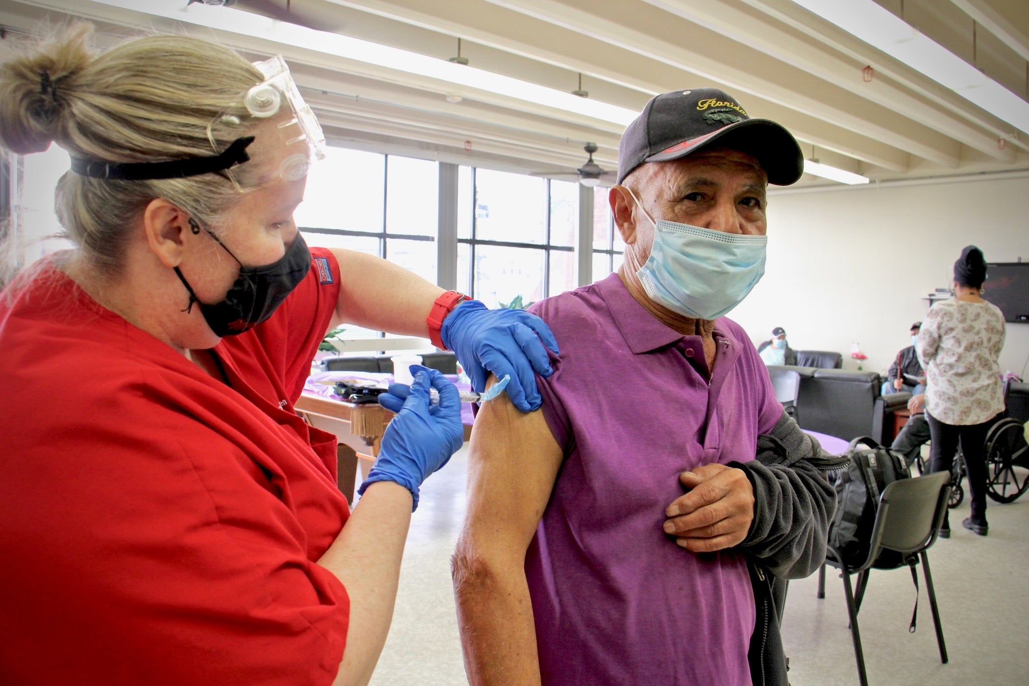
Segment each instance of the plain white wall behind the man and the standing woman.
[[[730,315],[754,342],[786,329],[797,350],[835,350],[885,372],[908,328],[975,245],[988,262],[1029,261],[1029,178],[772,194],[765,278]],[[989,282],[986,284],[989,298]],[[1029,324],[1008,324],[1000,370],[1020,373]]]

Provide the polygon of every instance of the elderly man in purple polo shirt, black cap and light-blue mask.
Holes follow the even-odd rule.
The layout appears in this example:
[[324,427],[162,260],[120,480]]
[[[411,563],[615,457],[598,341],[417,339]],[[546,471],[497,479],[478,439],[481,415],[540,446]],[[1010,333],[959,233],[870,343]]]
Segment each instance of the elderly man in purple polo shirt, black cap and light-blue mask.
[[534,306],[562,350],[542,407],[491,401],[472,432],[453,572],[475,686],[786,683],[777,591],[824,558],[840,461],[723,315],[764,273],[767,184],[802,172],[714,88],[627,129],[625,264]]

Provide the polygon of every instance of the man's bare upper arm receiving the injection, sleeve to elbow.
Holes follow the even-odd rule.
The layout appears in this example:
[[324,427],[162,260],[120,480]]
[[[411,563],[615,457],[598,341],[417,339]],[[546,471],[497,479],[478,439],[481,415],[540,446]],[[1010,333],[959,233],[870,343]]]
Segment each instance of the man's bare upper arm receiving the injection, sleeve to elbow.
[[511,557],[521,565],[562,457],[542,410],[523,413],[506,394],[483,403],[471,432],[468,506],[459,554]]

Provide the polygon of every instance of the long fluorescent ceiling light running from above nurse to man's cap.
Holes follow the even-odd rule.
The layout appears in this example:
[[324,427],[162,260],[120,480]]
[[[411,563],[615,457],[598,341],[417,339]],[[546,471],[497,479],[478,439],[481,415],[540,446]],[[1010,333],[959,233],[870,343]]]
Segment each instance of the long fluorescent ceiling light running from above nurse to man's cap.
[[[580,98],[538,83],[530,83],[474,67],[457,65],[447,60],[430,58],[419,52],[381,45],[360,38],[287,24],[229,7],[208,6],[199,2],[183,6],[183,0],[94,0],[94,2],[219,31],[262,38],[294,47],[317,50],[355,62],[427,76],[451,84],[487,91],[623,125],[628,125],[639,114],[635,110],[602,103],[598,100]],[[452,88],[448,88],[448,91],[452,91]]]

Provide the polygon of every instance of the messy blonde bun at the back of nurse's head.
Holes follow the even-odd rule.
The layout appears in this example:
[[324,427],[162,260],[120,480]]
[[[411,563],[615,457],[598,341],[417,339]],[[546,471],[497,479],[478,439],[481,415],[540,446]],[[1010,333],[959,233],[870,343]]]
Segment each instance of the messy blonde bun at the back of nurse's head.
[[58,36],[38,40],[31,49],[4,56],[0,144],[22,154],[41,152],[67,134],[76,79],[95,58],[92,38],[92,25],[77,23]]

